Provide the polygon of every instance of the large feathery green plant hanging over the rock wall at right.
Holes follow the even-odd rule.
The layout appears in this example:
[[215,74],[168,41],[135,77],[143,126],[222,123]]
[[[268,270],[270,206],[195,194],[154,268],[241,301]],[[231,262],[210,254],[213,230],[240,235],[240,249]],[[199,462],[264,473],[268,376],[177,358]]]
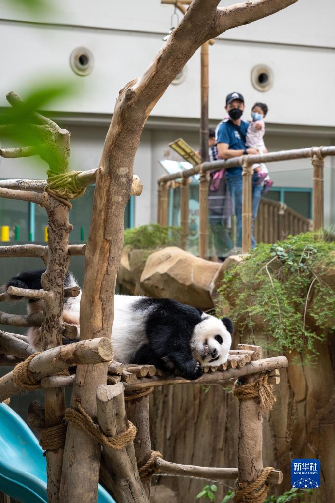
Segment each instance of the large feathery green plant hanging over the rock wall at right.
[[242,336],[252,340],[258,327],[269,349],[311,356],[335,329],[335,292],[326,282],[334,266],[335,243],[321,232],[261,243],[225,273],[218,309],[229,305]]

